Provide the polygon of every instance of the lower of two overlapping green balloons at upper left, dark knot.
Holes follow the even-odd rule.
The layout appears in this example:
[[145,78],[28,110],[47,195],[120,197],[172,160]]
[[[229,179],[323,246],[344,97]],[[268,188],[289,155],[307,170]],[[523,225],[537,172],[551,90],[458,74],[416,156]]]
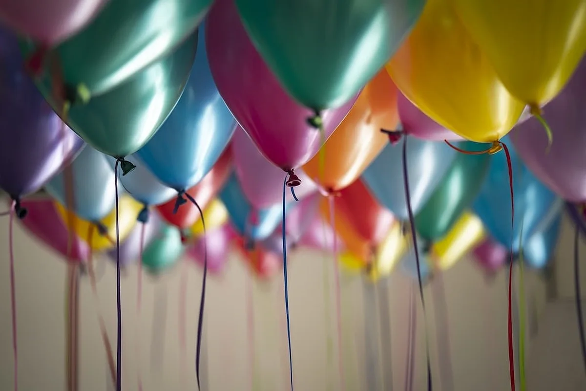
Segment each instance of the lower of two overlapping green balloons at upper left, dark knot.
[[71,106],[67,124],[106,155],[133,154],[147,144],[181,97],[196,48],[197,33],[115,89]]

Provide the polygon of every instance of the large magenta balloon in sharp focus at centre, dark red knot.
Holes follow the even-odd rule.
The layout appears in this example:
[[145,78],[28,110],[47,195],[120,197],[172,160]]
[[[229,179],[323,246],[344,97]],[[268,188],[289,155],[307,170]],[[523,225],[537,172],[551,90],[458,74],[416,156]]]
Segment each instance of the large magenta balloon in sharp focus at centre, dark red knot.
[[205,27],[207,56],[216,86],[258,149],[285,171],[311,159],[322,138],[332,134],[355,99],[348,97],[350,101],[342,107],[322,113],[321,134],[307,122],[314,115],[312,111],[282,89],[254,49],[233,0],[216,1]]

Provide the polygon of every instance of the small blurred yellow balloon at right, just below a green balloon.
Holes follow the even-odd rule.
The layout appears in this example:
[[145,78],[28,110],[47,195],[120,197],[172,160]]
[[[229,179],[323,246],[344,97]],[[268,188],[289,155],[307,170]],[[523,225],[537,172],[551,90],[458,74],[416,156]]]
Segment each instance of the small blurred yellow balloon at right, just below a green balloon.
[[484,238],[482,221],[470,212],[465,212],[454,227],[431,247],[430,259],[434,268],[446,270],[462,259]]

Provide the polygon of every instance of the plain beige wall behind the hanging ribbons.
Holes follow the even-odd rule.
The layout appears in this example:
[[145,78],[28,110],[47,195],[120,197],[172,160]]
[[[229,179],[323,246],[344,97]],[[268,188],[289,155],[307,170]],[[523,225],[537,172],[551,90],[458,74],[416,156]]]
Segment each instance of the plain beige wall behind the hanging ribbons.
[[[8,278],[8,219],[0,220],[0,389],[12,387],[11,317]],[[62,260],[35,240],[15,229],[16,284],[18,301],[18,341],[20,386],[23,390],[64,389],[64,292],[66,267]],[[327,265],[332,261],[326,259]],[[333,287],[331,267],[328,267]],[[180,273],[188,271],[188,379],[189,387],[180,382],[178,349],[178,293]],[[289,300],[291,310],[292,346],[295,389],[303,391],[339,390],[336,352],[335,306],[333,291],[325,302],[323,293],[323,257],[318,253],[300,252],[291,256]],[[145,278],[144,310],[140,321],[135,316],[137,270],[130,268],[122,281],[123,298],[123,378],[124,390],[136,390],[137,366],[144,378],[145,390],[180,390],[195,388],[195,345],[197,308],[201,273],[192,265],[180,265],[159,278]],[[101,311],[115,341],[115,269],[105,268],[98,283]],[[210,278],[206,302],[207,389],[249,390],[250,348],[247,328],[247,284],[250,281],[243,264],[230,259],[223,276]],[[449,352],[454,368],[455,390],[495,391],[508,389],[506,339],[506,276],[500,273],[486,283],[470,260],[460,263],[444,274],[449,320]],[[288,363],[285,356],[285,334],[282,327],[282,276],[267,283],[253,282],[255,351],[260,390],[285,390]],[[395,273],[386,286],[374,290],[364,287],[357,277],[342,277],[343,362],[346,390],[366,390],[367,384],[376,389],[403,389],[406,368],[407,314],[409,292],[413,281]],[[530,301],[543,308],[544,287],[537,276],[526,277]],[[445,355],[435,344],[433,296],[437,287],[427,288],[428,329],[431,336],[432,365],[435,390],[441,390],[438,368]],[[391,345],[384,345],[377,332],[376,306],[364,305],[388,298]],[[153,313],[156,300],[166,292],[168,308],[166,327],[160,329],[152,345]],[[418,305],[419,302],[417,301]],[[332,322],[326,325],[325,311],[331,312]],[[364,313],[368,314],[366,320]],[[140,334],[137,326],[140,325]],[[418,314],[417,366],[414,390],[424,389],[424,327]],[[97,325],[96,308],[87,279],[81,283],[81,355],[80,390],[101,391],[107,388],[104,348]],[[135,342],[140,336],[142,355],[135,354]],[[328,370],[327,335],[333,336],[333,359]],[[374,346],[374,348],[368,348]],[[162,356],[151,357],[151,351]],[[389,354],[391,359],[389,359]],[[373,355],[385,357],[385,361]],[[389,362],[390,361],[390,362]],[[162,363],[160,365],[159,363]],[[367,371],[367,364],[371,367]],[[384,371],[383,371],[384,368]],[[384,379],[384,380],[383,380]],[[386,384],[383,384],[386,381]],[[111,386],[110,386],[111,387]],[[383,388],[384,387],[384,388]],[[444,388],[447,391],[447,388]]]

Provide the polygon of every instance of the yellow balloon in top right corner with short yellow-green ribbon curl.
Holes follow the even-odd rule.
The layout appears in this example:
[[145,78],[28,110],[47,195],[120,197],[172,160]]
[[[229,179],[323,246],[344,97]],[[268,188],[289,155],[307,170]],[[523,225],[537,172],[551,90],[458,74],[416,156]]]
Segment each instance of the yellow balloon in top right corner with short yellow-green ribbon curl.
[[584,0],[453,0],[507,89],[539,106],[555,97],[586,51]]

